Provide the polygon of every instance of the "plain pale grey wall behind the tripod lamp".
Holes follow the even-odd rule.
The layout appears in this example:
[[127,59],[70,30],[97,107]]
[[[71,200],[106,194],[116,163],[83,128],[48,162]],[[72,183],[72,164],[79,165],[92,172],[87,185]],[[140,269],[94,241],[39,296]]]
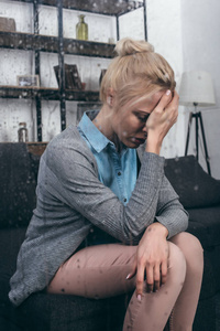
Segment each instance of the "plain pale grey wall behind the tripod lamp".
[[[182,31],[184,50],[184,71],[202,70],[211,74],[216,106],[199,108],[202,114],[211,174],[220,179],[220,1],[219,0],[182,0]],[[187,113],[193,109],[187,109]],[[190,137],[189,152],[195,150],[194,128]],[[204,148],[199,146],[200,163],[206,162]]]

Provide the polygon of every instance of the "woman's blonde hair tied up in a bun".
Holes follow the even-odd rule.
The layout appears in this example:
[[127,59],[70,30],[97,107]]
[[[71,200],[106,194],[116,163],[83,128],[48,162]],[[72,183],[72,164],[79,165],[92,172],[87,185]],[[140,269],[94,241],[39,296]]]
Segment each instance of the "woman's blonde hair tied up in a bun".
[[125,38],[117,43],[114,52],[117,55],[100,86],[100,100],[103,104],[110,89],[116,92],[119,106],[158,90],[174,90],[176,83],[172,67],[162,55],[154,52],[148,42]]

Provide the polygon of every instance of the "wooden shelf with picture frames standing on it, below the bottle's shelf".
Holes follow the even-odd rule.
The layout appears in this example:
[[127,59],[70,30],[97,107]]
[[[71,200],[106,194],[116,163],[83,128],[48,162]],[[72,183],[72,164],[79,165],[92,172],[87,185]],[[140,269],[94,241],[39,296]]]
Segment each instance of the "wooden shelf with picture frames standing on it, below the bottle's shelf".
[[[97,90],[74,90],[64,92],[65,99],[69,102],[98,102],[99,92]],[[44,100],[59,100],[58,88],[46,87],[20,87],[20,86],[0,86],[0,98],[20,98],[30,99],[40,97]]]

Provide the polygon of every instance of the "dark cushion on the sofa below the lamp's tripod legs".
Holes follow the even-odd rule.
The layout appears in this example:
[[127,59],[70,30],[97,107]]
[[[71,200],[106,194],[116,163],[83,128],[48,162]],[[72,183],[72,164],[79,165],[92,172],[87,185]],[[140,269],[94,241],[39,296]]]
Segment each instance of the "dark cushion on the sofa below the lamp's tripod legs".
[[220,204],[220,181],[206,173],[194,156],[167,159],[165,174],[186,209]]

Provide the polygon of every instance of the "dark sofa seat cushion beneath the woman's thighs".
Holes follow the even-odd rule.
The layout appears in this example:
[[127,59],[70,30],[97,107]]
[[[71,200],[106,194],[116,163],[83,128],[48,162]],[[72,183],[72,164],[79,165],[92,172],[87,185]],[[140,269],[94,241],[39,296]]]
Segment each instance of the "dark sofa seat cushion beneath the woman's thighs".
[[127,305],[127,296],[95,300],[38,292],[15,310],[29,317],[30,331],[121,331]]

